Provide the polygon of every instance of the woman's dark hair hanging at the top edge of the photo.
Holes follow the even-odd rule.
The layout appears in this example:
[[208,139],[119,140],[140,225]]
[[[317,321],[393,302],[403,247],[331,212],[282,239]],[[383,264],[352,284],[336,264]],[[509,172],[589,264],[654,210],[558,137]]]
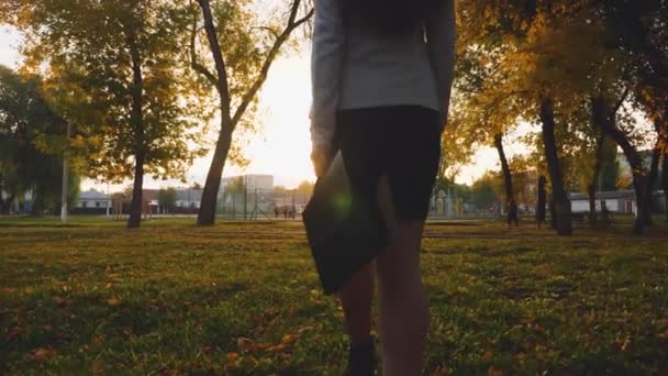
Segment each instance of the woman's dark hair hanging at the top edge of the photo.
[[369,26],[385,34],[405,34],[422,22],[430,9],[442,0],[342,0],[344,14],[357,14]]

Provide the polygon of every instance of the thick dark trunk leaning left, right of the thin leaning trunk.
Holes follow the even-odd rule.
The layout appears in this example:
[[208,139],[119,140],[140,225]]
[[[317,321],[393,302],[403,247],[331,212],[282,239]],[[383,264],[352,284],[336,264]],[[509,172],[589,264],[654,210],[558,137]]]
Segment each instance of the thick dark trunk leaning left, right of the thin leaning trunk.
[[572,224],[570,221],[570,200],[564,189],[564,175],[557,153],[557,143],[555,140],[555,117],[552,99],[545,98],[541,101],[541,121],[543,123],[543,143],[545,146],[545,158],[552,180],[552,189],[554,197],[557,234],[567,236],[572,234]]

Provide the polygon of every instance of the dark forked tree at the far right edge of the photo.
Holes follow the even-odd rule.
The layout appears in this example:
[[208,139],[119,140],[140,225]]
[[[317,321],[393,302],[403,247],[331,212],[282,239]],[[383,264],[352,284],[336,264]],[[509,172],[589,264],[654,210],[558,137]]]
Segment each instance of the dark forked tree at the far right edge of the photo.
[[[628,2],[624,0],[600,1],[598,3],[605,25],[613,36],[612,45],[624,53],[630,60],[625,71],[624,92],[632,91],[633,101],[639,104],[654,122],[657,140],[653,147],[649,168],[638,156],[633,133],[619,124],[614,109],[613,91],[602,88],[593,101],[600,126],[622,147],[633,172],[633,185],[638,202],[638,215],[634,222],[634,233],[642,234],[650,224],[652,187],[657,176],[661,154],[667,154],[668,143],[668,3],[665,1]],[[619,91],[619,90],[617,90]]]

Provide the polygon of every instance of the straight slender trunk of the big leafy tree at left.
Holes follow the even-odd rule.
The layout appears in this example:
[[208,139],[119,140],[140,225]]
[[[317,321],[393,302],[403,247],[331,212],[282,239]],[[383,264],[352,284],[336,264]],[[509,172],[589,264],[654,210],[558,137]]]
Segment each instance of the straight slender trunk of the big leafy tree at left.
[[135,166],[134,185],[132,187],[132,203],[130,204],[130,217],[127,228],[135,229],[142,223],[143,190],[144,190],[144,164],[146,163],[146,143],[144,130],[144,78],[142,76],[142,58],[136,45],[136,37],[131,31],[127,36],[130,55],[132,58],[132,111],[130,121],[134,130],[135,142]]

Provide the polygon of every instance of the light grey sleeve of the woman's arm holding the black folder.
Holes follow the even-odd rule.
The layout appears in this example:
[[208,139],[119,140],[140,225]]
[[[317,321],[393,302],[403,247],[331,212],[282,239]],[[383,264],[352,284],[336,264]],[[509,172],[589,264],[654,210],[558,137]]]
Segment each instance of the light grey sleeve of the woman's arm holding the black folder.
[[330,147],[334,140],[345,44],[341,0],[315,0],[311,53],[311,140]]

